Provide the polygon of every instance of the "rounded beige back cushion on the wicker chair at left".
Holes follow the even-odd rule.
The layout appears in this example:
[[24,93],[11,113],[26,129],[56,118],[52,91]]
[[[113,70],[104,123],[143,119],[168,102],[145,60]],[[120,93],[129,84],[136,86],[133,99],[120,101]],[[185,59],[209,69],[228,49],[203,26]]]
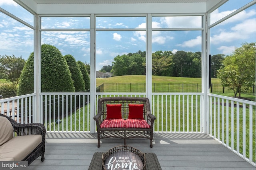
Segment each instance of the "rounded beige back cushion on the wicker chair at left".
[[12,123],[3,116],[0,116],[0,146],[13,138]]

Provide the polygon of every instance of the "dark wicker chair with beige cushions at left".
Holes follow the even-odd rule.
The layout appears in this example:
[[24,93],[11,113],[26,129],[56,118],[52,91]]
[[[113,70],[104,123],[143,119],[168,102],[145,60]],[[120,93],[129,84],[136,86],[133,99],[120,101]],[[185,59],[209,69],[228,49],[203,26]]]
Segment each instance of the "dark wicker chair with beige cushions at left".
[[[41,123],[20,124],[0,113],[0,161],[44,161],[45,127]],[[16,136],[13,137],[13,133]]]

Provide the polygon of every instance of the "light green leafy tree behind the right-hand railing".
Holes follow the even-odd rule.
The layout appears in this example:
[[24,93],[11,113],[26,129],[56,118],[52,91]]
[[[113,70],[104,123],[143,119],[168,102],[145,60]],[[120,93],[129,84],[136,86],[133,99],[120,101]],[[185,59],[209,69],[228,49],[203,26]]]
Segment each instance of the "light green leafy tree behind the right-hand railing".
[[241,97],[242,87],[255,83],[255,43],[244,43],[223,61],[218,71],[220,83],[233,90],[234,97]]

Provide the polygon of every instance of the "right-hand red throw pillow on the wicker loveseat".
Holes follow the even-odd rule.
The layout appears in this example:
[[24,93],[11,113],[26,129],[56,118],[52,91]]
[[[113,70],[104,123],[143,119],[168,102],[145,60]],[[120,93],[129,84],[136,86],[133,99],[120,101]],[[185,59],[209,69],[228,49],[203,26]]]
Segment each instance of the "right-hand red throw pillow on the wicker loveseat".
[[144,104],[128,104],[129,115],[128,119],[144,119]]

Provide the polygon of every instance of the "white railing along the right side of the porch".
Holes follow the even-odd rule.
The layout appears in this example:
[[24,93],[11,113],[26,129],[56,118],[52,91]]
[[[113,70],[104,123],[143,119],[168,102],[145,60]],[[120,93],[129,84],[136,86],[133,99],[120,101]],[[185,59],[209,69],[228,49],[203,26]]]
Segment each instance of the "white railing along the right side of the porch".
[[208,94],[210,135],[255,165],[255,102]]

